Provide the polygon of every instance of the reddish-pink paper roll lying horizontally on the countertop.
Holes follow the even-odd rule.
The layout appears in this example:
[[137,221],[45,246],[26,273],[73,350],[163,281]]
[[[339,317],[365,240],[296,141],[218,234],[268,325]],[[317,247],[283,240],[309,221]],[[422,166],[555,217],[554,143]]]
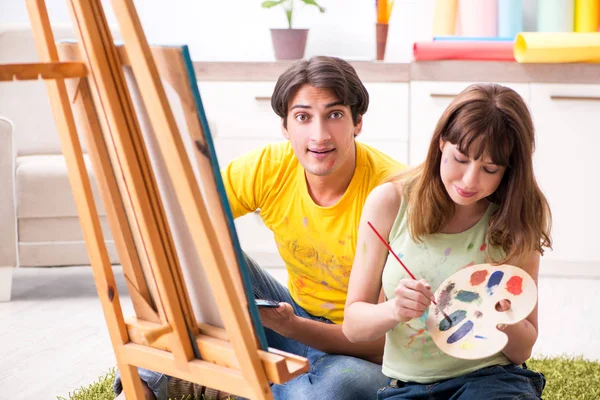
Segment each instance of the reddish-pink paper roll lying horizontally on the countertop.
[[418,42],[413,45],[413,56],[415,61],[515,61],[513,47],[513,42]]

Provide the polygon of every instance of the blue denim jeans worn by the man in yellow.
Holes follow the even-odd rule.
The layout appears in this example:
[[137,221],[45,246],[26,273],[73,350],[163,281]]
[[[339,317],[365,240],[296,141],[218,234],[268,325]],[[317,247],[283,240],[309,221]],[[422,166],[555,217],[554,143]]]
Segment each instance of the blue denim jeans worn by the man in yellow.
[[[246,257],[255,298],[289,303],[294,313],[303,318],[332,322],[315,317],[300,307],[290,296],[286,287],[273,276]],[[275,400],[368,400],[375,399],[377,391],[384,387],[388,378],[381,372],[381,365],[360,358],[327,354],[295,340],[286,338],[265,328],[269,347],[306,357],[310,362],[309,372],[284,385],[272,385]],[[167,400],[169,377],[157,372],[138,368],[140,377],[154,392],[157,400]],[[115,379],[115,393],[121,392],[119,374]]]

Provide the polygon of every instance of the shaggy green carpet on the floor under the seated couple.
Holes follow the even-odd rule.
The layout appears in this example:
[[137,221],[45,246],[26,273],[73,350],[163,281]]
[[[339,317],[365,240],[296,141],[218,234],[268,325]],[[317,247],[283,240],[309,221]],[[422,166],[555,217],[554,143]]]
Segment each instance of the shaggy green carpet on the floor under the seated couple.
[[[547,379],[544,400],[599,400],[600,362],[579,358],[536,358],[527,366],[542,372]],[[82,387],[58,400],[113,400],[115,370],[109,371],[88,387]]]

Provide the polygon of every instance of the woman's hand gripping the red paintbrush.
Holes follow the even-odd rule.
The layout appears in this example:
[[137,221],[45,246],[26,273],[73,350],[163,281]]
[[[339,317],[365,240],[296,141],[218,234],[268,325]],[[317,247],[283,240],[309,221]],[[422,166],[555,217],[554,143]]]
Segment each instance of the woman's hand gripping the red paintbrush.
[[393,318],[398,322],[422,317],[433,299],[431,286],[425,280],[401,279],[394,294]]

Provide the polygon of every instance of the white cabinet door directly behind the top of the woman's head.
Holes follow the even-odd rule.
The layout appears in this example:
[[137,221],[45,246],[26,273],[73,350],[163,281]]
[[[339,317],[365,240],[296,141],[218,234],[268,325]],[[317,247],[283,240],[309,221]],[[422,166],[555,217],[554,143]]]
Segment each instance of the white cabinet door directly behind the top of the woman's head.
[[[417,165],[427,156],[433,130],[452,99],[474,82],[410,83],[410,165]],[[500,83],[519,93],[529,101],[529,85],[526,83]]]

